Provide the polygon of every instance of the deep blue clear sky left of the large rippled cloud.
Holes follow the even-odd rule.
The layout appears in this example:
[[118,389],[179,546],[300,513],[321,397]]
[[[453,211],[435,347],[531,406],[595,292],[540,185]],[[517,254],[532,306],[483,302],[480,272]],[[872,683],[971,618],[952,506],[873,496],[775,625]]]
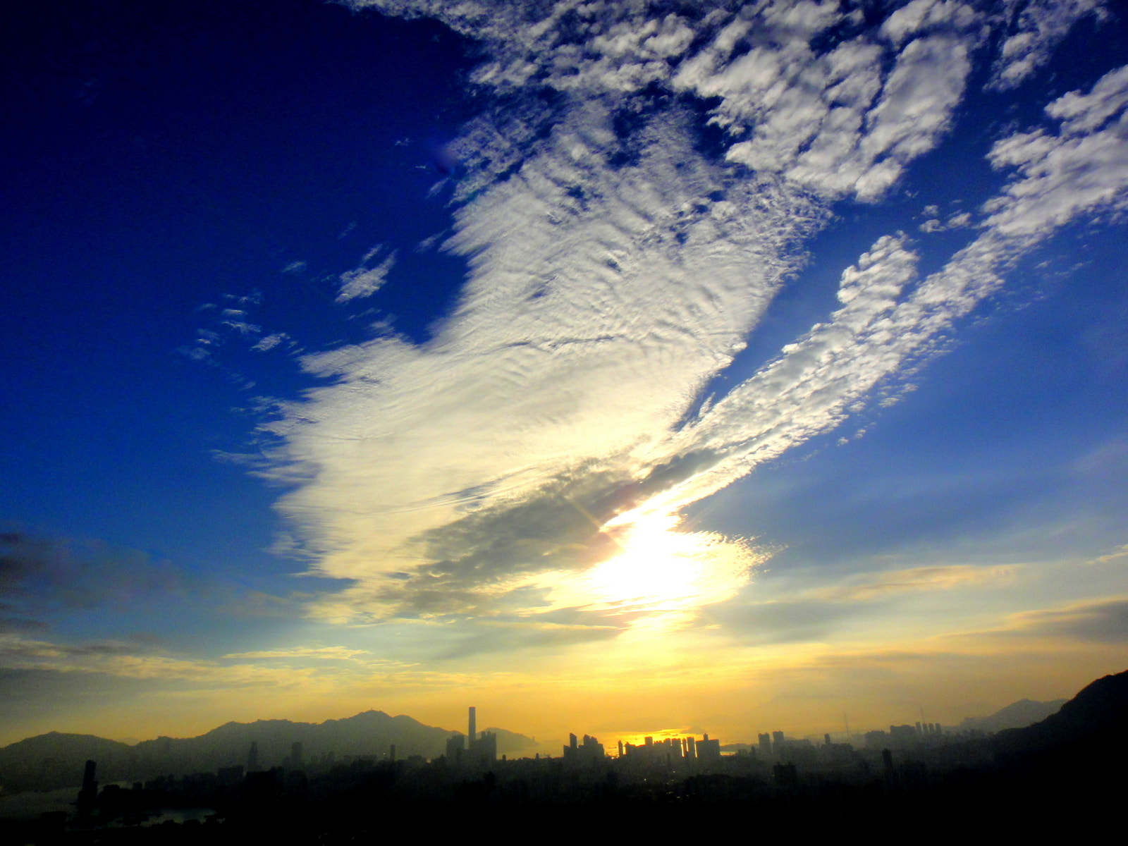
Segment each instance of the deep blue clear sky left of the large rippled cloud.
[[[256,319],[307,343],[363,335],[324,276],[450,224],[426,197],[429,148],[469,114],[457,97],[468,45],[426,21],[287,0],[270,14],[63,2],[14,17],[3,514],[192,569],[277,570],[261,554],[275,492],[210,450],[238,450],[253,425],[232,413],[250,391],[226,371],[254,367],[259,394],[301,382],[230,346],[219,368],[178,350],[206,324],[201,306],[255,291]],[[297,261],[308,267],[282,273]],[[380,311],[424,337],[462,266],[412,263]]]

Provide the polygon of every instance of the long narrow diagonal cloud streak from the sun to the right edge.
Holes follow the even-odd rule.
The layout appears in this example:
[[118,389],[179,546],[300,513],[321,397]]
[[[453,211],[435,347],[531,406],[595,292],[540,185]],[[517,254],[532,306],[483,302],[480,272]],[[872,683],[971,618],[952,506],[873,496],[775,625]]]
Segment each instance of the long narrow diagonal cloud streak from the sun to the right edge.
[[[1016,173],[986,204],[982,232],[904,300],[898,291],[913,281],[916,256],[907,252],[904,236],[879,240],[843,274],[839,299],[846,306],[830,323],[784,347],[777,361],[682,433],[681,450],[704,449],[725,458],[666,499],[671,504],[700,499],[832,428],[852,400],[998,288],[1014,258],[1078,215],[1123,208],[1126,79],[1128,69],[1112,71],[1091,94],[1074,91],[1050,104],[1048,114],[1066,118],[1058,135],[1038,130],[999,141],[992,162]],[[1099,125],[1103,129],[1082,132]]]

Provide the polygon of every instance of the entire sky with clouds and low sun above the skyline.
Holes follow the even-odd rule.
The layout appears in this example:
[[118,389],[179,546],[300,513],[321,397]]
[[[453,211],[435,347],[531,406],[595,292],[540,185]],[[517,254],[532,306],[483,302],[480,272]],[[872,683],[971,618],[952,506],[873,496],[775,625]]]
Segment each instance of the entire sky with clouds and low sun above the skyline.
[[0,742],[1126,669],[1117,5],[3,15]]

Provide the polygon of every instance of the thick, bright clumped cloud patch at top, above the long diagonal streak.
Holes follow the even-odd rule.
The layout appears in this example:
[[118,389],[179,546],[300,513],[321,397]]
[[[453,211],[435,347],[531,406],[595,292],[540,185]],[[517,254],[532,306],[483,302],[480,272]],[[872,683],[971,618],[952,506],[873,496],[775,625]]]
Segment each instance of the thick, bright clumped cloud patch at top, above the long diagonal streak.
[[[914,9],[920,19],[905,19]],[[875,200],[946,130],[978,42],[977,16],[967,6],[917,0],[898,15],[887,21],[891,33],[882,32],[900,49],[896,63],[870,32],[818,54],[812,37],[844,19],[827,14],[809,27],[749,26],[739,37],[756,46],[732,60],[729,27],[682,64],[673,86],[719,97],[713,120],[750,135],[729,148],[730,160],[784,173],[820,193]],[[765,23],[770,27],[772,16]],[[919,32],[928,35],[900,47]]]

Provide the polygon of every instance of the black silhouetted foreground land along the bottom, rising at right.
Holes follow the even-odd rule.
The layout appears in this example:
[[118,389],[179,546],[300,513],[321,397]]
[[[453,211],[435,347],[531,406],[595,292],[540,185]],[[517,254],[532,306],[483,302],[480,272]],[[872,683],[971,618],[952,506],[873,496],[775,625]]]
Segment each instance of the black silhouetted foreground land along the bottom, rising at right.
[[[830,744],[800,761],[744,752],[706,763],[660,756],[521,759],[458,767],[353,761],[307,774],[159,779],[104,787],[79,812],[0,823],[11,844],[374,843],[482,837],[640,837],[874,843],[953,837],[1077,839],[1120,831],[1128,787],[1128,673],[1094,681],[1061,711],[990,738],[898,749]],[[208,809],[152,825],[157,809]],[[1113,835],[1117,839],[1122,834]]]

